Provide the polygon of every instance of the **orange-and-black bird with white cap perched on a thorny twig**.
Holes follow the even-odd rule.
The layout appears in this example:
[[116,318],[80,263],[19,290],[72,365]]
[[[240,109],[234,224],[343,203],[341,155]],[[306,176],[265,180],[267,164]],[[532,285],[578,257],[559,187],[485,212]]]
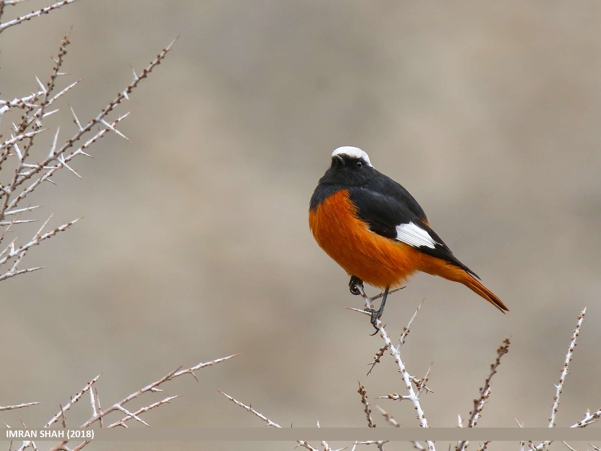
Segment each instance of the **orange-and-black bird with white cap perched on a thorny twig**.
[[311,196],[309,227],[350,276],[351,293],[358,295],[364,282],[385,290],[378,310],[365,309],[376,330],[389,289],[418,271],[462,283],[502,313],[509,311],[432,230],[409,191],[376,170],[358,147],[332,152],[331,166]]

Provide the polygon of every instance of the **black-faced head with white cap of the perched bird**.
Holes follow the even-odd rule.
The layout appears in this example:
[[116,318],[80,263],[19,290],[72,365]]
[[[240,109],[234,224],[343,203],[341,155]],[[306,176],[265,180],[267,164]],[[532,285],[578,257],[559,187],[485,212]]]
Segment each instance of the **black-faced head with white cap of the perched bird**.
[[379,174],[367,153],[357,147],[338,147],[332,153],[332,165],[319,180],[325,185],[364,185]]

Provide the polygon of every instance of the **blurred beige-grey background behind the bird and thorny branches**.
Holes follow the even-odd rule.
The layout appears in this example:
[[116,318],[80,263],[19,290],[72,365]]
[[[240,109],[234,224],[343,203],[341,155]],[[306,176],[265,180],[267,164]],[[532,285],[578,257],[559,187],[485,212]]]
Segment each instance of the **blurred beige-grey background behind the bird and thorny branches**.
[[[63,171],[29,200],[44,206],[29,217],[54,212],[52,225],[85,218],[28,254],[42,271],[2,282],[0,403],[42,403],[2,422],[46,423],[101,371],[108,406],[175,367],[240,352],[198,372],[200,383],[172,381],[169,393],[185,396],[147,422],[262,427],[219,389],[282,425],[364,426],[357,381],[372,400],[402,387],[388,355],[365,376],[382,342],[344,310],[361,302],[308,230],[311,193],[341,145],[409,189],[511,310],[429,275],[389,298],[393,338],[426,299],[403,355],[416,376],[433,362],[430,424],[468,416],[510,336],[478,425],[546,426],[585,305],[557,423],[601,407],[600,19],[594,1],[112,0],[7,29],[0,91],[13,98],[37,89],[34,75],[47,77],[73,26],[62,83],[84,81],[47,121],[63,140],[75,130],[67,102],[89,120],[130,82],[130,65],[141,70],[181,38],[119,110],[135,109],[120,126],[133,143],[103,138],[96,159],[73,163],[84,181]],[[3,119],[7,133],[14,117]],[[377,402],[417,426],[408,405]],[[69,423],[88,410],[76,405]],[[169,447],[294,447],[193,445]]]

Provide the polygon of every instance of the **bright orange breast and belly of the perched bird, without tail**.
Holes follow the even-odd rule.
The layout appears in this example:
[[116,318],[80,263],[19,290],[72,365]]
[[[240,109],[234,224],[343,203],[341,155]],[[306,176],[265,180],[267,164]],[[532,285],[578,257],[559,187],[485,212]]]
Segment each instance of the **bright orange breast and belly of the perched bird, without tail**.
[[349,275],[384,289],[398,286],[418,271],[423,256],[407,244],[371,232],[356,216],[344,189],[309,212],[317,244]]

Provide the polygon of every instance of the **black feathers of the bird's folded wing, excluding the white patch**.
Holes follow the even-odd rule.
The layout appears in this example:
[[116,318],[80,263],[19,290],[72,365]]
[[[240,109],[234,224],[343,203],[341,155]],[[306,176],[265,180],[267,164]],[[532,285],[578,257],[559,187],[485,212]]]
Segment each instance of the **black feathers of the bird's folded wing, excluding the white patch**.
[[[401,185],[398,186],[403,188]],[[404,198],[399,198],[398,195],[392,196],[383,192],[373,191],[372,189],[366,188],[365,185],[351,188],[349,190],[349,198],[357,207],[357,216],[368,225],[371,232],[385,236],[389,239],[400,241],[397,238],[397,225],[413,222],[416,227],[424,230],[434,242],[434,247],[412,245],[413,248],[424,254],[445,260],[445,262],[465,269],[469,274],[478,277],[474,271],[457,260],[445,242],[442,241],[441,237],[439,237],[436,232],[424,222],[426,215],[423,213],[423,209],[419,206],[417,201],[406,189],[403,188],[403,191],[409,196],[411,202],[404,201]]]

